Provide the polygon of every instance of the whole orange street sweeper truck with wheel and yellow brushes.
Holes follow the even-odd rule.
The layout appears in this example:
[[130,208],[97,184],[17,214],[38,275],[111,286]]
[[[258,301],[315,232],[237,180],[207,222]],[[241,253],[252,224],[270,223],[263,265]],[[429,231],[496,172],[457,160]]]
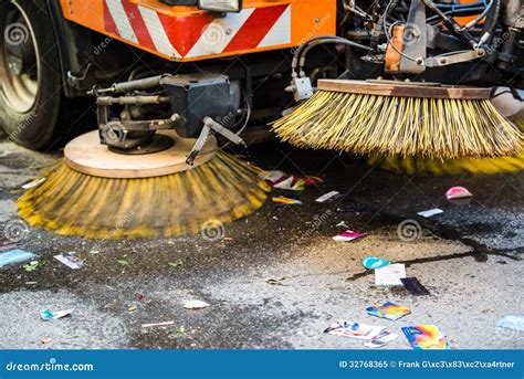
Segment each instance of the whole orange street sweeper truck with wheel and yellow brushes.
[[268,188],[223,147],[271,130],[374,157],[517,156],[523,14],[520,0],[2,1],[1,126],[36,150],[67,143],[20,215],[102,239],[242,218]]

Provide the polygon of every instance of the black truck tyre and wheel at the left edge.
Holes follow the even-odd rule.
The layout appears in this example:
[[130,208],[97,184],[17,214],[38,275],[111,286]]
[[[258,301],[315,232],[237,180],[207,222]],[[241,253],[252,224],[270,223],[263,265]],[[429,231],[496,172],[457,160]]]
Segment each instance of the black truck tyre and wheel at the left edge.
[[62,98],[59,51],[44,0],[0,4],[0,126],[42,150],[56,139]]

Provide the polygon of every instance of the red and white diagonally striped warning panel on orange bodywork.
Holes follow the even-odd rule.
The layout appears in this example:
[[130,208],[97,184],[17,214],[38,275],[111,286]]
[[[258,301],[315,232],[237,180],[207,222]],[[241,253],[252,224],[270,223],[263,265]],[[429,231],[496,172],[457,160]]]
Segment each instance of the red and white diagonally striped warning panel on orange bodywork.
[[291,44],[291,6],[216,19],[209,13],[170,17],[129,0],[104,0],[104,25],[107,33],[149,51],[189,60]]

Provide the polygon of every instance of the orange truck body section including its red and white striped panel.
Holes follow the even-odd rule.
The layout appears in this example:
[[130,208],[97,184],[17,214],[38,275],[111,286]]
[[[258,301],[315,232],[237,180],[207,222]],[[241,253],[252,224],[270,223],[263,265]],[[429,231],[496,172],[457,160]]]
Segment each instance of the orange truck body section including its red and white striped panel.
[[176,62],[294,48],[336,34],[336,0],[244,0],[217,17],[157,0],[61,0],[64,18]]

